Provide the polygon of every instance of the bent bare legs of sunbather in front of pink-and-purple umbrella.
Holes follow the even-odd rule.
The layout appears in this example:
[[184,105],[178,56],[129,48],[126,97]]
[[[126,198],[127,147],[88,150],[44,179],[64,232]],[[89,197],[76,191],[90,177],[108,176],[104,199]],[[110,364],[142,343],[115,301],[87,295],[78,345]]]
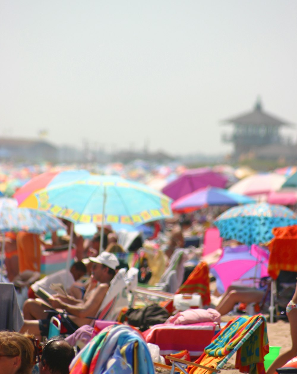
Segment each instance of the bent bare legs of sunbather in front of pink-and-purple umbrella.
[[261,303],[265,292],[263,290],[245,286],[229,286],[221,297],[215,309],[223,316],[238,303]]

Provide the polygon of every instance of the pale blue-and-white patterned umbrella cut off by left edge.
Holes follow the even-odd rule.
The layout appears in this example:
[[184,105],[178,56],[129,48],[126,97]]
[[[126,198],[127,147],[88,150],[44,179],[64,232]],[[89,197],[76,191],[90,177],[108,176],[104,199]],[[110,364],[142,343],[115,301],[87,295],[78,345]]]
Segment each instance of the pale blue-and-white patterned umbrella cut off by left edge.
[[[0,199],[0,233],[25,231],[41,234],[64,228],[65,225],[48,212],[29,208],[18,208],[16,200]],[[4,262],[4,246],[5,237],[2,235],[1,267],[3,267]]]

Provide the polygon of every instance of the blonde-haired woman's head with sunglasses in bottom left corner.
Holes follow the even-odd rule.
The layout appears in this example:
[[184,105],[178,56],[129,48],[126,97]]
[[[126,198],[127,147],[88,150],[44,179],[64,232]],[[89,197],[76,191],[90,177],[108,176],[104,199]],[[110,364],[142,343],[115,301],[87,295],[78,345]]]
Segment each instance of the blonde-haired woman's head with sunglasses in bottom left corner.
[[31,374],[39,343],[33,335],[0,331],[0,373]]

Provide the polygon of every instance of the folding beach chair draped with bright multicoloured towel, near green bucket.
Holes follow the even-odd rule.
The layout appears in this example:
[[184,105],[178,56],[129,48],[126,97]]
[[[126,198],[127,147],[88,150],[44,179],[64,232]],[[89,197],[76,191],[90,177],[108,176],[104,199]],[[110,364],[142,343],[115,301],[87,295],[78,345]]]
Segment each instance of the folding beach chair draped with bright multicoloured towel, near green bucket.
[[172,373],[179,370],[185,374],[208,374],[220,371],[236,353],[236,369],[242,373],[264,374],[264,356],[268,352],[266,319],[259,314],[239,316],[229,321],[195,361],[199,367],[189,361],[178,362],[180,360],[170,356],[166,358],[173,362]]

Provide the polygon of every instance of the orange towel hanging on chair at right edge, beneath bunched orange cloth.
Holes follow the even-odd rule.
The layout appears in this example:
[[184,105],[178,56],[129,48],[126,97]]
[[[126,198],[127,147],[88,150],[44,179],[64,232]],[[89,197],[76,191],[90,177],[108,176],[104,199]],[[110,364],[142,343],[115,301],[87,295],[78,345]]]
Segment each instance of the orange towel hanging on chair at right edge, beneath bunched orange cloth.
[[[284,233],[287,235],[288,233]],[[268,260],[268,273],[271,278],[276,279],[280,270],[297,272],[297,237],[272,239],[268,245],[270,255]]]

